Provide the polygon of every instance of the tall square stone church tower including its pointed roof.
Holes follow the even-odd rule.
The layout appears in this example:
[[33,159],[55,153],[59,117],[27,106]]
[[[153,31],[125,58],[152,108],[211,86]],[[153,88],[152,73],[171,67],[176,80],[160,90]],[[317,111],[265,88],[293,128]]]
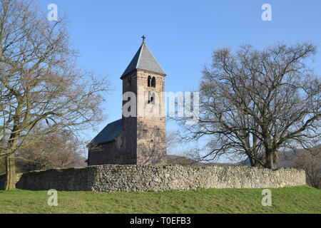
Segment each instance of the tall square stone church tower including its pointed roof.
[[[126,161],[137,165],[166,164],[165,72],[143,43],[121,76],[123,81],[122,138]],[[127,93],[131,92],[131,93]],[[134,94],[128,98],[128,94]],[[132,106],[128,108],[128,104]],[[126,108],[126,110],[124,110]],[[124,115],[124,113],[131,115]]]

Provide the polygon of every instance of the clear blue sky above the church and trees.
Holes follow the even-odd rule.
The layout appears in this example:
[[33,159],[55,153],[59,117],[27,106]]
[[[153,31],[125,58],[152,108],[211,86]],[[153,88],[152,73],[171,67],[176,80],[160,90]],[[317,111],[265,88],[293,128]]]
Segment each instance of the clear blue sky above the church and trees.
[[[49,4],[56,4],[58,16],[68,16],[80,65],[108,74],[113,87],[106,95],[109,118],[99,130],[121,118],[120,76],[142,35],[168,75],[166,92],[197,90],[203,65],[220,46],[236,48],[246,42],[262,48],[278,41],[313,41],[321,51],[320,0],[39,0],[39,4],[45,12]],[[272,21],[261,19],[263,4],[272,6]],[[320,53],[313,66],[320,73]],[[173,130],[175,125],[167,127]]]

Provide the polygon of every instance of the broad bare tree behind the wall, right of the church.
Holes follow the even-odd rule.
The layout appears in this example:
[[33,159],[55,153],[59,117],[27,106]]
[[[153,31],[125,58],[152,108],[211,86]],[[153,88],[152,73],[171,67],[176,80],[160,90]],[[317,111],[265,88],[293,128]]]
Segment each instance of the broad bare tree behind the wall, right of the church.
[[184,125],[185,139],[208,140],[203,160],[248,157],[252,166],[275,169],[278,150],[320,139],[320,77],[306,64],[316,52],[312,43],[213,51],[198,124]]

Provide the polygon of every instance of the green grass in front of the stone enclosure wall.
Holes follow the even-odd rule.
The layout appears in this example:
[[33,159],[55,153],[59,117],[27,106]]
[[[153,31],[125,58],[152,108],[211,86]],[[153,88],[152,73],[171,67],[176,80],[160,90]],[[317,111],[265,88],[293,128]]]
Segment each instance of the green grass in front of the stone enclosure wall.
[[0,191],[0,213],[321,213],[321,190],[270,190],[271,207],[262,206],[262,189],[58,192],[57,207],[48,206],[46,191]]

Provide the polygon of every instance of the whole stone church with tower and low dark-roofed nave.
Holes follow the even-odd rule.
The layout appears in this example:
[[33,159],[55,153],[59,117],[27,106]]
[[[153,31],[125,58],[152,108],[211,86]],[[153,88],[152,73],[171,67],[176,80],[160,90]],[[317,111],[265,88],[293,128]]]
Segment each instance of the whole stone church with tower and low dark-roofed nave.
[[[157,105],[153,96],[164,93],[166,76],[148,49],[145,36],[142,38],[141,47],[121,76],[123,94],[136,95],[136,112],[139,107]],[[165,100],[163,97],[158,100],[161,112],[165,109]],[[124,100],[123,105],[126,102],[128,100]],[[122,115],[120,120],[106,125],[87,147],[88,165],[165,165],[165,115]]]

